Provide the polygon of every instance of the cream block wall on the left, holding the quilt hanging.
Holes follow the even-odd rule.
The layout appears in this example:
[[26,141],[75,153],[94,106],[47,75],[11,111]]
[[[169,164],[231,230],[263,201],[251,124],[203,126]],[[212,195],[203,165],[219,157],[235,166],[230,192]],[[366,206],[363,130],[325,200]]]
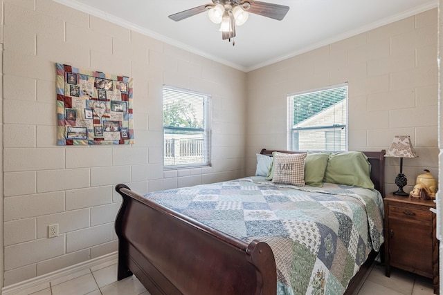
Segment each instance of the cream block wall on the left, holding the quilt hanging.
[[[1,3],[3,285],[116,251],[117,183],[147,193],[244,176],[246,73],[51,0]],[[134,78],[135,144],[56,145],[56,62]],[[163,171],[163,84],[212,95],[212,166]]]

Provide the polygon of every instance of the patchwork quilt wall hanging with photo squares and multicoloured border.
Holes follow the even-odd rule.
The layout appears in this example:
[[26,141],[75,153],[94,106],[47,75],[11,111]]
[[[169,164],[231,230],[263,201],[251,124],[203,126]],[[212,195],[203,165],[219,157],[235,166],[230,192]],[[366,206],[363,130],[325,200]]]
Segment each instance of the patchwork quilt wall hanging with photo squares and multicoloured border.
[[55,64],[57,145],[133,144],[132,78]]

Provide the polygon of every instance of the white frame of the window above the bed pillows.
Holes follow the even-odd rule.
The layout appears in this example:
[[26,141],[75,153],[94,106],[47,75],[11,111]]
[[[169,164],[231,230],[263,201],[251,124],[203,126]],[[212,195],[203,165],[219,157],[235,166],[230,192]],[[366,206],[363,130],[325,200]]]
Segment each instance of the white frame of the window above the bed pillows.
[[[310,93],[320,93],[322,91],[332,91],[335,90],[337,88],[346,88],[346,97],[345,97],[345,123],[344,124],[331,124],[331,125],[323,125],[323,126],[309,126],[309,127],[296,127],[294,128],[294,124],[293,124],[293,115],[294,115],[294,110],[293,110],[293,98],[296,97],[297,95],[307,95]],[[308,91],[300,91],[297,93],[290,93],[289,95],[287,95],[287,149],[289,151],[293,150],[293,151],[300,151],[300,133],[298,133],[298,143],[296,144],[296,148],[297,149],[293,149],[294,143],[293,143],[293,137],[294,137],[294,133],[293,131],[309,131],[309,130],[315,130],[315,129],[325,129],[325,149],[307,149],[307,150],[313,150],[313,151],[327,151],[330,152],[332,150],[330,149],[326,149],[328,143],[327,143],[327,133],[330,131],[327,131],[327,129],[344,129],[344,146],[342,149],[334,149],[334,151],[347,151],[348,150],[348,142],[349,142],[349,137],[348,137],[348,119],[349,119],[349,86],[347,84],[347,82],[342,83],[342,84],[334,84],[334,85],[330,85],[330,86],[326,86],[326,87],[322,87],[322,88],[316,88],[316,89],[311,89]],[[321,113],[321,112],[320,112]],[[315,115],[311,116],[311,117],[315,117]],[[310,119],[311,117],[308,117],[307,119]],[[305,120],[304,120],[305,121]],[[300,124],[301,122],[299,122],[298,124]],[[341,146],[343,144],[340,144]]]

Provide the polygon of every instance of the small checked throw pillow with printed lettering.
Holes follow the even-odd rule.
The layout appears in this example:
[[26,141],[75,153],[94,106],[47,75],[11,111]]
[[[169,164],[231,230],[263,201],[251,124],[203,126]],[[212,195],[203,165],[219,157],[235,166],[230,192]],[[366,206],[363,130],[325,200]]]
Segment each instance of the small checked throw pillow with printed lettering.
[[272,182],[305,186],[306,153],[274,155]]

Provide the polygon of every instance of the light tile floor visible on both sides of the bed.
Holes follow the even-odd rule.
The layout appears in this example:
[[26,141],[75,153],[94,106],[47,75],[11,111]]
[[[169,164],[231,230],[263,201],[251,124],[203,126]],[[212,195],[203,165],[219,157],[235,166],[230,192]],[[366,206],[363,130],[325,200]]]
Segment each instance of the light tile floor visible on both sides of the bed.
[[[135,276],[117,281],[117,264],[106,263],[59,278],[51,287],[32,295],[150,295]],[[431,295],[432,280],[392,268],[390,278],[384,266],[376,264],[358,295]]]

